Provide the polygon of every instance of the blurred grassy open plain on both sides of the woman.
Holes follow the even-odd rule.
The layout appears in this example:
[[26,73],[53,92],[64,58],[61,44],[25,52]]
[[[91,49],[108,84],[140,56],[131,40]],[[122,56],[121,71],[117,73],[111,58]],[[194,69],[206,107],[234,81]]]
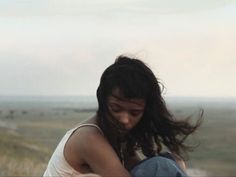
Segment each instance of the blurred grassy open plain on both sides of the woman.
[[[94,114],[65,105],[0,103],[0,176],[42,176],[66,130]],[[189,154],[188,166],[208,176],[235,176],[235,102],[170,102],[169,107],[178,118],[193,115],[193,120],[204,109],[203,126],[189,141],[199,147]]]

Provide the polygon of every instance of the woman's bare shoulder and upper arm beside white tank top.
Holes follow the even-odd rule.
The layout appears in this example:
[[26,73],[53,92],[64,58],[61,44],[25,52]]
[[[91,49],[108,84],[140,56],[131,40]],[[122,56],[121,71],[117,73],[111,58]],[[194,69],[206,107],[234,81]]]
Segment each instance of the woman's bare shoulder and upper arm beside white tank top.
[[101,176],[130,177],[111,145],[97,129],[81,128],[73,134],[69,143],[67,156],[76,158],[76,162],[69,161],[78,167],[78,171],[81,164],[86,164],[92,173]]

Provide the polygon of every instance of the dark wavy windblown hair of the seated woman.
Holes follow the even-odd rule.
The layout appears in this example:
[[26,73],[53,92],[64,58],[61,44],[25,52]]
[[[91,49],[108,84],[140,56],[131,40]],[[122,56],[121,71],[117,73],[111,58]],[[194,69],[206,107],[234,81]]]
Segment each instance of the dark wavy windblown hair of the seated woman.
[[141,120],[127,137],[127,153],[132,155],[138,148],[145,156],[152,157],[159,154],[164,145],[171,152],[182,156],[192,149],[184,141],[200,126],[202,119],[198,119],[195,125],[190,123],[189,118],[177,120],[167,109],[161,86],[146,64],[128,56],[119,56],[115,63],[103,72],[97,89],[98,124],[119,157],[121,142],[114,140],[106,118],[107,97],[116,88],[126,98],[146,100]]

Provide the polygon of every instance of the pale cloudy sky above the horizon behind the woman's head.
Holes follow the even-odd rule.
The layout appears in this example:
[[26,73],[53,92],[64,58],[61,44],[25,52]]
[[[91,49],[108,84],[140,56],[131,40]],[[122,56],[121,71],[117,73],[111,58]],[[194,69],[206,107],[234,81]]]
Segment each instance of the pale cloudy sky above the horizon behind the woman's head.
[[236,0],[0,0],[0,95],[95,95],[120,54],[166,96],[236,97]]

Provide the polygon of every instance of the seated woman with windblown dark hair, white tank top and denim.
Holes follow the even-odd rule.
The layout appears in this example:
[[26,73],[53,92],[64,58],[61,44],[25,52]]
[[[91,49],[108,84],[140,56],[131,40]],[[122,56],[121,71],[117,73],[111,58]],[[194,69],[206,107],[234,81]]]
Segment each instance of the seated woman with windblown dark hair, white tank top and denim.
[[96,115],[67,132],[44,176],[186,176],[184,140],[202,119],[176,120],[147,65],[119,56],[102,74],[97,99]]

